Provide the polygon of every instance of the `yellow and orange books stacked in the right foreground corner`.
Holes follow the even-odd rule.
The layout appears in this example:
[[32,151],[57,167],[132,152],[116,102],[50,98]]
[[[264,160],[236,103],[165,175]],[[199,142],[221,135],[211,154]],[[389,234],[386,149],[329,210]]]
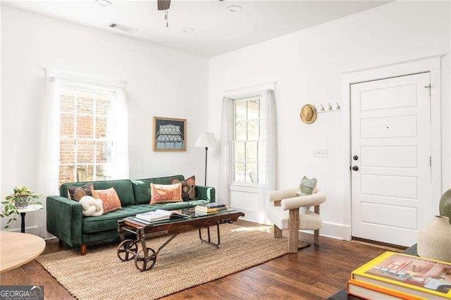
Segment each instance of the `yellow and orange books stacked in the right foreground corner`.
[[387,251],[352,272],[347,294],[363,299],[451,299],[451,263]]

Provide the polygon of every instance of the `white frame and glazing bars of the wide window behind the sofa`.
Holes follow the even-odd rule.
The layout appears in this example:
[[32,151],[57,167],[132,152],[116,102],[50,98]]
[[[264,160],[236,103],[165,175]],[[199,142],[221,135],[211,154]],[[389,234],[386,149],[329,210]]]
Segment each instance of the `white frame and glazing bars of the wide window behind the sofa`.
[[[73,89],[74,91],[74,101],[73,101],[73,112],[63,112],[61,111],[61,108],[59,109],[59,116],[60,120],[63,115],[72,115],[73,116],[73,137],[63,137],[61,135],[61,132],[59,134],[59,142],[61,145],[61,142],[63,141],[72,141],[74,146],[74,163],[61,163],[61,149],[60,149],[60,158],[59,158],[59,166],[72,166],[73,167],[73,182],[78,182],[78,175],[77,170],[78,166],[85,165],[89,166],[92,165],[92,178],[91,181],[97,180],[97,167],[99,165],[112,165],[114,168],[114,161],[115,161],[115,151],[114,151],[114,144],[116,142],[116,137],[114,137],[113,132],[111,132],[111,137],[97,137],[97,118],[109,118],[109,115],[106,114],[97,114],[97,94],[101,92],[101,94],[109,94],[111,96],[111,115],[113,115],[113,118],[111,120],[113,126],[115,123],[114,115],[115,115],[115,106],[116,106],[116,99],[117,99],[117,89],[112,87],[104,87],[101,85],[91,85],[85,82],[75,82],[73,80],[61,80],[60,89]],[[79,98],[79,92],[89,92],[93,95],[93,111],[92,113],[78,113],[78,98]],[[60,101],[61,105],[61,92],[58,95],[58,101]],[[78,137],[77,136],[77,127],[78,127],[78,116],[89,116],[92,117],[92,137]],[[61,125],[60,125],[61,128]],[[94,149],[94,157],[92,163],[78,163],[78,142],[93,142],[93,149]],[[105,162],[105,163],[99,163],[97,162],[97,146],[99,142],[109,142],[111,143],[111,161]],[[61,182],[61,169],[58,170],[58,185],[61,185],[65,182]]]

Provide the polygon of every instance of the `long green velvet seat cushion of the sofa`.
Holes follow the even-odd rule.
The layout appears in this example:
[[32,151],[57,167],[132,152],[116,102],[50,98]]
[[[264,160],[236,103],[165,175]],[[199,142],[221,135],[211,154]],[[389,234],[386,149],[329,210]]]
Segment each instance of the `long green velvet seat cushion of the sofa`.
[[168,204],[154,204],[154,205],[137,204],[126,206],[123,207],[122,209],[119,209],[118,211],[112,211],[111,213],[106,213],[98,217],[83,218],[82,232],[92,233],[116,229],[118,227],[118,220],[122,220],[123,218],[136,215],[137,213],[147,213],[149,211],[156,211],[157,209],[166,209],[166,210],[182,209],[187,208],[190,205],[206,204],[206,203],[208,203],[208,201],[206,200],[194,200],[189,202],[185,201]]

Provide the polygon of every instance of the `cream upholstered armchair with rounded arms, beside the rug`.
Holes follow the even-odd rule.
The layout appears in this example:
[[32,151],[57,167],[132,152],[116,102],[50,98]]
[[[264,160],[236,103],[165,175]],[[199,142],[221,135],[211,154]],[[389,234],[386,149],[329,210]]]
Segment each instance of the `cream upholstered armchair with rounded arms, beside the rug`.
[[[268,193],[266,215],[274,223],[274,237],[282,237],[282,230],[289,230],[288,247],[290,253],[297,253],[299,230],[314,230],[314,243],[319,244],[319,229],[322,220],[319,205],[327,196],[321,191],[309,196],[299,196],[298,188],[283,189]],[[299,208],[314,206],[313,211],[299,212]]]

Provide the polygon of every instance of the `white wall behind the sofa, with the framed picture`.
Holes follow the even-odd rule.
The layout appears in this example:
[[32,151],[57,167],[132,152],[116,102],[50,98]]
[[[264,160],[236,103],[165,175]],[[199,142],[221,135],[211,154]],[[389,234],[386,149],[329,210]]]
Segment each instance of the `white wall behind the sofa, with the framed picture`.
[[[131,178],[194,174],[203,181],[204,149],[194,142],[207,126],[206,58],[8,6],[1,22],[4,194],[16,185],[39,192],[44,68],[127,82]],[[187,151],[152,151],[153,115],[187,119]],[[27,215],[27,226],[38,216]]]

